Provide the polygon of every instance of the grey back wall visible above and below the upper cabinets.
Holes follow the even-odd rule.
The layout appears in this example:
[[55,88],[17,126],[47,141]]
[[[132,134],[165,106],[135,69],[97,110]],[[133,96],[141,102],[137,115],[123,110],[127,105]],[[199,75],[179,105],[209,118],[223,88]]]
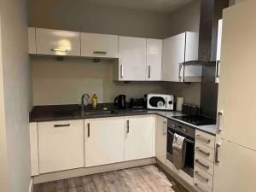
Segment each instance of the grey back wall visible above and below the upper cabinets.
[[[70,0],[30,2],[29,26],[143,38],[167,38],[179,32],[197,32],[199,28],[198,0],[171,15],[85,3],[83,0],[75,3]],[[65,59],[60,62],[52,58],[33,57],[33,104],[77,103],[83,92],[96,92],[100,102],[113,102],[114,96],[121,93],[129,98],[143,96],[148,92],[160,92],[185,96],[189,102],[200,103],[200,84],[184,86],[152,82],[113,82],[113,64],[116,63],[117,61],[93,63],[85,59]]]

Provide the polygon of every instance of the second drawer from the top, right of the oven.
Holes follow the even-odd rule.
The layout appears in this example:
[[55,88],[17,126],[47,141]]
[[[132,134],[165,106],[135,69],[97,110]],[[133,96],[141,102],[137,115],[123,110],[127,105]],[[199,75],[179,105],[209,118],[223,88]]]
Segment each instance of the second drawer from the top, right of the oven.
[[202,157],[214,162],[214,149],[209,148],[204,144],[195,142],[195,154],[200,154]]

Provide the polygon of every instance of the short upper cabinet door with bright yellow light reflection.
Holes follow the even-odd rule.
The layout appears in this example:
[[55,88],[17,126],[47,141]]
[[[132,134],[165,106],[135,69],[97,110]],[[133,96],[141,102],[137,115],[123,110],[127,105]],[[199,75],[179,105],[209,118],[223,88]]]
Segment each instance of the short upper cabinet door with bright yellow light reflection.
[[80,33],[53,29],[36,29],[39,55],[80,56]]

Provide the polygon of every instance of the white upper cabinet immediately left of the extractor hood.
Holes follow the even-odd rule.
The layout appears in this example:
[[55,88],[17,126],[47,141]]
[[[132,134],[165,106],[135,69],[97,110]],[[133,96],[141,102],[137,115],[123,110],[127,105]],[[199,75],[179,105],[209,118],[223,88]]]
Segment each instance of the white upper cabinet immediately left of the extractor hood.
[[198,60],[197,32],[183,32],[164,39],[162,80],[173,82],[201,82],[201,67],[179,64]]

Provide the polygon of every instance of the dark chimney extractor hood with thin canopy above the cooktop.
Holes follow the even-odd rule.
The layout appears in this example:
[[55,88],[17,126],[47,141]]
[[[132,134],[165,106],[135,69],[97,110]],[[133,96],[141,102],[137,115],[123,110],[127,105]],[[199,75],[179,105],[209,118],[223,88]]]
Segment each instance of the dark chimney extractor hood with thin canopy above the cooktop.
[[183,66],[215,66],[218,38],[218,20],[229,0],[201,0],[198,61],[185,61]]

